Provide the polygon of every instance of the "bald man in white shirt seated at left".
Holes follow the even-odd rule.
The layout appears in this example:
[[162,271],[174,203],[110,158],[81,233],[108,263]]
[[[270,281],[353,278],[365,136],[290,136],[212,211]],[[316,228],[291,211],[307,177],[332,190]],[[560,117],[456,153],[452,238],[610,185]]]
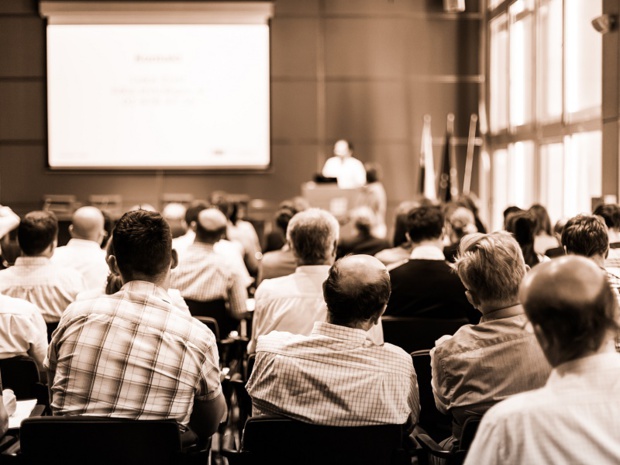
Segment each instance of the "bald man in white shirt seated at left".
[[86,289],[101,289],[108,265],[101,242],[107,235],[103,213],[95,207],[78,208],[71,219],[67,245],[54,250],[52,263],[80,272]]

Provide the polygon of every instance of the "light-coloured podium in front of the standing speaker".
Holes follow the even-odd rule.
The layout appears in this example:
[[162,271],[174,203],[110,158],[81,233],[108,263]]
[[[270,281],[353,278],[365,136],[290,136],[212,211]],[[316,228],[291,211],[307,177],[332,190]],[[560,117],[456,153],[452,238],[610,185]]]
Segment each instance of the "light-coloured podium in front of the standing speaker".
[[360,205],[362,189],[340,189],[336,183],[301,185],[301,195],[310,206],[329,211],[338,220],[345,220],[349,210]]

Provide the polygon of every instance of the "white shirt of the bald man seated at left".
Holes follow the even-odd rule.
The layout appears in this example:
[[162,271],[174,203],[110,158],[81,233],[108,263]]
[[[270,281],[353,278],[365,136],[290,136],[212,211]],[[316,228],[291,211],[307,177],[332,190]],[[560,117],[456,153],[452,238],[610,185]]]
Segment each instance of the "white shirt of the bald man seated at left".
[[71,239],[67,245],[54,250],[52,263],[82,273],[87,289],[97,289],[105,285],[108,277],[108,264],[105,250],[94,241]]

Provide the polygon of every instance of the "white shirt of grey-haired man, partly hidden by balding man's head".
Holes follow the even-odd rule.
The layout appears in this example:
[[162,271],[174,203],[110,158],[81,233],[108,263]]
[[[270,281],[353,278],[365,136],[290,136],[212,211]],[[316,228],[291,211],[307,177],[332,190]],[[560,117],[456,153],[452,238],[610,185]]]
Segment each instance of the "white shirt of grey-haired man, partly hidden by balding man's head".
[[[317,321],[327,319],[323,282],[329,265],[298,266],[293,274],[264,280],[254,295],[256,307],[252,320],[252,340],[248,352],[256,349],[259,336],[271,331],[309,335]],[[383,343],[381,323],[368,331],[376,343]]]

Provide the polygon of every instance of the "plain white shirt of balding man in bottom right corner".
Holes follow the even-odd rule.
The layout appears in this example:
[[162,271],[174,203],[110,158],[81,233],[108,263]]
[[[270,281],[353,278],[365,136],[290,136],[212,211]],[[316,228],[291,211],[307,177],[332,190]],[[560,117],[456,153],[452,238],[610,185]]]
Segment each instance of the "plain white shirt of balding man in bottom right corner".
[[483,417],[466,465],[620,463],[620,355],[556,367],[545,387],[517,394]]

